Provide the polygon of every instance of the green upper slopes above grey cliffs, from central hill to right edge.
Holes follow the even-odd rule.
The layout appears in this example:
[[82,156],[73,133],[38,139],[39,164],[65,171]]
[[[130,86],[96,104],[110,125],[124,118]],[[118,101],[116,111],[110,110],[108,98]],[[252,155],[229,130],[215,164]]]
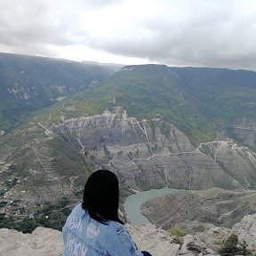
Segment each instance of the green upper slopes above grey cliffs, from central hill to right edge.
[[[99,87],[62,101],[61,111],[66,118],[100,114],[116,106],[138,118],[160,114],[191,140],[202,142],[238,118],[255,118],[255,99],[254,72],[144,65],[122,68]],[[52,111],[60,122],[60,107]]]

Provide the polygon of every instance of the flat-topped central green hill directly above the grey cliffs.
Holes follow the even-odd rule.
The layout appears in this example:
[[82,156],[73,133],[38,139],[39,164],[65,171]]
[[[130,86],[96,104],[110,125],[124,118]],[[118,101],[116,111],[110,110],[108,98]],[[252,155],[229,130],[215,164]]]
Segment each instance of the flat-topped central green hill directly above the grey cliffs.
[[[61,111],[65,112],[66,118],[70,118],[100,114],[106,108],[111,110],[122,106],[130,116],[149,118],[160,114],[177,124],[191,138],[211,140],[214,134],[212,128],[195,106],[190,104],[189,97],[173,76],[171,68],[158,65],[130,66],[122,68],[100,87],[90,88],[61,102],[66,109],[72,107],[76,111],[65,112],[65,108]],[[56,108],[56,115],[53,116],[60,118],[58,113],[60,109]]]

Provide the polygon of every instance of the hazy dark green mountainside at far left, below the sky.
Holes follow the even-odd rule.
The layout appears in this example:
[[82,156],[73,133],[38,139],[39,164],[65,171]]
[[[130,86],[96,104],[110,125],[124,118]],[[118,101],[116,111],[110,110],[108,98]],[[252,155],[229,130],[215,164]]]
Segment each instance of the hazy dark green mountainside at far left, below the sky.
[[110,68],[75,61],[0,53],[0,131],[34,112],[102,82]]

